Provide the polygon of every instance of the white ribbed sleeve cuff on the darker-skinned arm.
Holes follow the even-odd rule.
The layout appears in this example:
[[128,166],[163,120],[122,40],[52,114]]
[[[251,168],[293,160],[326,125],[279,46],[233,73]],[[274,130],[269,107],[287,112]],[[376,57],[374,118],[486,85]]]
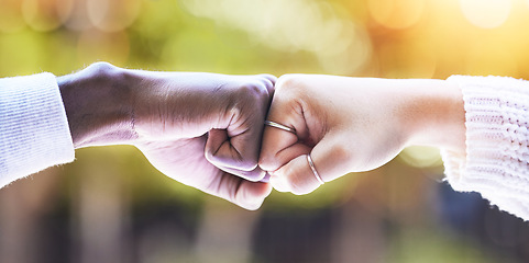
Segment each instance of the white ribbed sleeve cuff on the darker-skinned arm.
[[0,187],[74,157],[55,76],[0,79]]

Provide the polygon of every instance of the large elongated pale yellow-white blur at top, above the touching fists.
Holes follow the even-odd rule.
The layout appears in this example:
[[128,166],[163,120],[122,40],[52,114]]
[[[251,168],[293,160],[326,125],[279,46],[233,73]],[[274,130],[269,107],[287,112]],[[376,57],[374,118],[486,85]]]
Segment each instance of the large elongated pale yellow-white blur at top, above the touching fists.
[[260,45],[308,53],[327,73],[354,73],[371,56],[365,28],[340,15],[337,7],[328,2],[190,0],[183,3],[191,14],[242,30]]

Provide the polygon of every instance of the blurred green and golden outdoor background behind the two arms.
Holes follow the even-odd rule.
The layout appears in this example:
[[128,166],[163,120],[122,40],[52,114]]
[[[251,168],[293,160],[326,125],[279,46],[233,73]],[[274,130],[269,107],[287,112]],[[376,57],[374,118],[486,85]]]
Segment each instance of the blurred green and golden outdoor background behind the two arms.
[[[529,79],[528,25],[527,0],[0,0],[0,77],[109,61]],[[76,158],[0,191],[0,262],[529,261],[527,225],[454,193],[437,149],[307,196],[274,192],[257,211],[166,178],[132,147]]]

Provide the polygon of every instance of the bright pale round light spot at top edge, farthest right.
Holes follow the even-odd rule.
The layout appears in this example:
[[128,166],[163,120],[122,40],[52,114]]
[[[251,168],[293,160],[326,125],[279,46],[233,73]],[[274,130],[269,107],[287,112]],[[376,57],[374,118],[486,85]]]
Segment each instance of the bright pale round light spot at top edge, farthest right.
[[461,10],[475,26],[494,28],[505,23],[511,10],[511,0],[461,0]]

